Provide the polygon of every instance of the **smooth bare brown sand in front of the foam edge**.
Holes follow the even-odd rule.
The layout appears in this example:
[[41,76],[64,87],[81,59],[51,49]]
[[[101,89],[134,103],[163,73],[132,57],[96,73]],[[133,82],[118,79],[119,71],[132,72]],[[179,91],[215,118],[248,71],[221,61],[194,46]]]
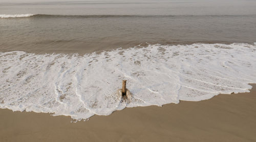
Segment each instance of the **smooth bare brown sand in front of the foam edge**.
[[256,141],[252,85],[250,93],[125,108],[78,123],[68,116],[1,109],[0,141]]

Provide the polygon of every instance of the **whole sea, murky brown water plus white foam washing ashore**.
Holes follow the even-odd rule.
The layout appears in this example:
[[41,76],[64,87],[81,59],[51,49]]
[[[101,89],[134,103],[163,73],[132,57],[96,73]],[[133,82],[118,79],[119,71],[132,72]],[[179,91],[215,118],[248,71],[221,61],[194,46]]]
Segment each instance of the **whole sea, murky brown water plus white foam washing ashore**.
[[[256,83],[256,1],[2,1],[0,108],[87,120]],[[118,95],[127,80],[132,98]]]

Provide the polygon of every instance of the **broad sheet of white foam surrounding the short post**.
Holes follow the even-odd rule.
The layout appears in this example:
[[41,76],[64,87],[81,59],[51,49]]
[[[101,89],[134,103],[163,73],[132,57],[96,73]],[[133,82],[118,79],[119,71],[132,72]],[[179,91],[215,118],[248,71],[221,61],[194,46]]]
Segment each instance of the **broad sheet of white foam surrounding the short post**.
[[[249,92],[256,45],[149,45],[83,56],[0,53],[0,108],[88,119],[125,107],[200,101]],[[133,98],[117,95],[121,81]]]

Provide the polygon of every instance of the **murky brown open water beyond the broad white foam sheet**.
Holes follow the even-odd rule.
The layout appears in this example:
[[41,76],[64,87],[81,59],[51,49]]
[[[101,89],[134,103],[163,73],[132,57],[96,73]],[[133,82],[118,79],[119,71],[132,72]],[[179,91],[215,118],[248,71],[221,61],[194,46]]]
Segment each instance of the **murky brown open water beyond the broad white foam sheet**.
[[[253,43],[254,1],[0,3],[0,52],[90,53],[140,43]],[[221,4],[221,5],[220,5]]]

